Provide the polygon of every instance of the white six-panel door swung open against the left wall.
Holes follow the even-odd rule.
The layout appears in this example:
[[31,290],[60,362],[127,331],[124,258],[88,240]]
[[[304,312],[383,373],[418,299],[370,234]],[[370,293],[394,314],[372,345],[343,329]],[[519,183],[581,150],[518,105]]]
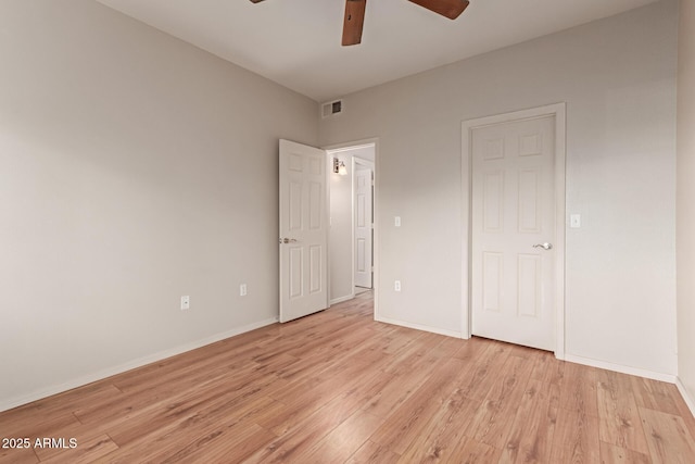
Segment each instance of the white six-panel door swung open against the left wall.
[[326,152],[280,140],[280,322],[328,308]]

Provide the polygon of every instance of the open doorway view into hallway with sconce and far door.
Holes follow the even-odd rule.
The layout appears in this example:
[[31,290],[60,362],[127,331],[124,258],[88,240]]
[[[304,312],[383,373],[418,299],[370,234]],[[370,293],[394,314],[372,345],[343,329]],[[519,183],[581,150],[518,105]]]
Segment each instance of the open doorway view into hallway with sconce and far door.
[[377,291],[377,143],[333,146],[326,152],[331,165],[345,167],[331,173],[329,181],[329,301],[337,304]]

